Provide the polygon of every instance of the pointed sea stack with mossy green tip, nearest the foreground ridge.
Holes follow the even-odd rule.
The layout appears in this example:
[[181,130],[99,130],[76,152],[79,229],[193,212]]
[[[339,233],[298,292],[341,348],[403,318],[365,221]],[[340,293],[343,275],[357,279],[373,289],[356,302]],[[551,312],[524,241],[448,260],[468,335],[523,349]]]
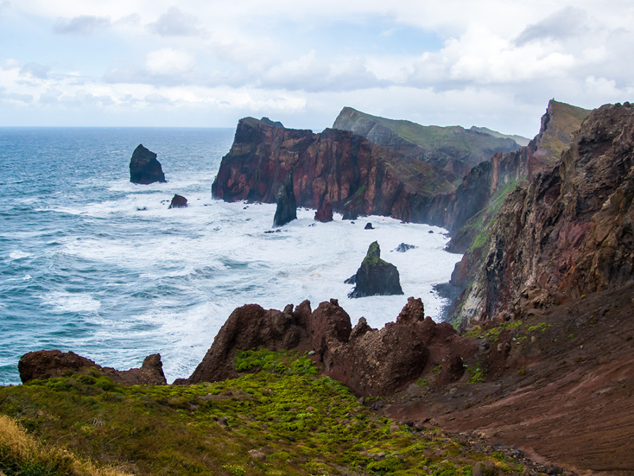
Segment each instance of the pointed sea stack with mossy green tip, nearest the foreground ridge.
[[349,298],[403,294],[397,267],[381,260],[381,249],[376,241],[368,248],[354,280],[356,286],[352,293],[349,293]]

